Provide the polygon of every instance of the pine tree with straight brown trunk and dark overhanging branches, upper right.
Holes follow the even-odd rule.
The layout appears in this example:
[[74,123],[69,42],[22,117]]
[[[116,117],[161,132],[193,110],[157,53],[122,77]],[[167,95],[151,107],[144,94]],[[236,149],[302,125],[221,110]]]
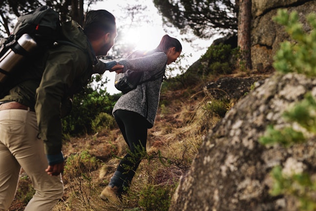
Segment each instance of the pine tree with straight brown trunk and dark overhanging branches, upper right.
[[[200,38],[238,34],[242,63],[251,69],[251,0],[154,0],[166,25],[193,30]],[[238,31],[238,32],[237,32]]]

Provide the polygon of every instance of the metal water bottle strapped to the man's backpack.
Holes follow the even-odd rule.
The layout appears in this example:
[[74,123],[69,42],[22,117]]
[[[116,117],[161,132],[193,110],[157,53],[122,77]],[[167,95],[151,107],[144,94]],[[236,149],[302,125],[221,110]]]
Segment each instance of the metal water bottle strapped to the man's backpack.
[[0,58],[0,83],[4,82],[14,68],[37,47],[35,40],[28,34],[23,34],[17,43],[9,48]]

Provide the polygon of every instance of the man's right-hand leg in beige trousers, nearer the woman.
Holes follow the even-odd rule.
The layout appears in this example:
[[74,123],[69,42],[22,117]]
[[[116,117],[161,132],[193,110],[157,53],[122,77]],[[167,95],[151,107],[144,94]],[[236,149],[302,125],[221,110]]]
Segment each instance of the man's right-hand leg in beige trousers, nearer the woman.
[[[22,166],[36,190],[25,211],[50,211],[63,194],[61,175],[49,176],[45,172],[48,166],[44,153],[44,143],[37,138],[36,114],[25,110],[11,109],[12,117],[19,118],[21,136],[11,140],[9,150]],[[17,127],[18,129],[18,127]]]

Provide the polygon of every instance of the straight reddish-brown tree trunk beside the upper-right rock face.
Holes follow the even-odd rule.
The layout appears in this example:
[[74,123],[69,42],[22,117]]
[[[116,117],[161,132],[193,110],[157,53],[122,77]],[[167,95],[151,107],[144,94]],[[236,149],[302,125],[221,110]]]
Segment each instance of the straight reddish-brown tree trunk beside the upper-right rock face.
[[251,0],[239,0],[238,46],[241,50],[240,64],[251,70]]

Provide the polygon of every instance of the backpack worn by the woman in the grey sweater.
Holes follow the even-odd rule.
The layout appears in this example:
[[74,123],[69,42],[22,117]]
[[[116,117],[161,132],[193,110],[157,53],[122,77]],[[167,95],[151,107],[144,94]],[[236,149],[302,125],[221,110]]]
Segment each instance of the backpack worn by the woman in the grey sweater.
[[[128,58],[137,58],[148,55],[148,52],[135,51]],[[126,70],[125,72],[116,73],[114,86],[117,90],[121,91],[123,94],[126,94],[134,89],[140,84],[143,84],[148,81],[154,81],[158,78],[165,78],[164,71],[159,71],[156,74],[152,75],[146,80],[142,80],[144,72],[138,72],[133,70]]]

